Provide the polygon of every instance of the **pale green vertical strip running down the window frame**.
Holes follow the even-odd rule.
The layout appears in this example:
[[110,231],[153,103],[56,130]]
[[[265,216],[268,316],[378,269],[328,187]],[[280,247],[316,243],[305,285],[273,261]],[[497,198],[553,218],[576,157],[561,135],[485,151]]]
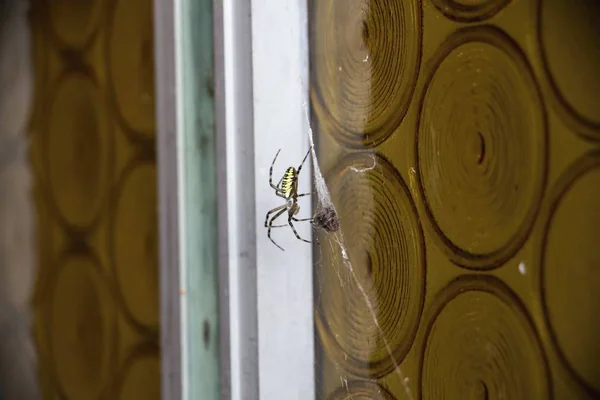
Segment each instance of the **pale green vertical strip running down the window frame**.
[[180,0],[189,400],[217,400],[219,326],[217,166],[212,0]]

